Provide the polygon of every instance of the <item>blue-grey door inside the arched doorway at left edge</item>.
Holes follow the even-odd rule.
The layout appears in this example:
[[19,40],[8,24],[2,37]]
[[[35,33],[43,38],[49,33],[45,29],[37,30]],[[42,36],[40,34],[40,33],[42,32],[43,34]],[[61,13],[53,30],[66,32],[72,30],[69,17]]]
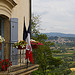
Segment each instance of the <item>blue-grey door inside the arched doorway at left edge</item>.
[[[4,37],[4,19],[0,17],[0,36]],[[1,44],[0,59],[4,59],[4,44]]]

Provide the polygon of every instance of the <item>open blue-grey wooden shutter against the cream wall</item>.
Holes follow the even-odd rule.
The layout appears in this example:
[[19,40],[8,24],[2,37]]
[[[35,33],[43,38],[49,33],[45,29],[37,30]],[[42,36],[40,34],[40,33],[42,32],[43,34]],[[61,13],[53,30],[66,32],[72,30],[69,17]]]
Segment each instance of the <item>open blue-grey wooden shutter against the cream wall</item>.
[[18,42],[18,18],[11,18],[11,61],[12,65],[18,64],[18,50],[12,48],[13,43]]

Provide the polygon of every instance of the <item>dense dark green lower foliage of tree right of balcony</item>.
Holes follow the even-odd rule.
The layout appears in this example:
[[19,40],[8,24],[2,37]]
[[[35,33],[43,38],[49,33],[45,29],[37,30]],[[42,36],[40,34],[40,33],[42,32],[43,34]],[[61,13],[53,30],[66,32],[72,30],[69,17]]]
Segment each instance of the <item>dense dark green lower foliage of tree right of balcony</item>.
[[[58,67],[62,61],[59,58],[54,58],[52,56],[52,52],[50,47],[54,45],[54,43],[51,42],[45,42],[43,41],[42,46],[39,46],[37,50],[33,50],[37,53],[36,61],[39,64],[39,70],[43,75],[47,75],[47,70],[51,71],[54,70],[55,67]],[[34,75],[34,74],[33,74]]]

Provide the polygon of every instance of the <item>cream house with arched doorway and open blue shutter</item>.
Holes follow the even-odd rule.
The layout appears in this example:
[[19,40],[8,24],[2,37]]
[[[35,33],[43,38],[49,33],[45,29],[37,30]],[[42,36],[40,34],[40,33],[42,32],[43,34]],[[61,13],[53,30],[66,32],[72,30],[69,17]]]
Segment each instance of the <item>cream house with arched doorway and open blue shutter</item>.
[[[5,38],[5,43],[1,45],[0,59],[11,59],[13,51],[10,43],[23,40],[24,17],[28,27],[31,19],[31,0],[0,0],[0,35]],[[18,54],[18,50],[13,53]]]

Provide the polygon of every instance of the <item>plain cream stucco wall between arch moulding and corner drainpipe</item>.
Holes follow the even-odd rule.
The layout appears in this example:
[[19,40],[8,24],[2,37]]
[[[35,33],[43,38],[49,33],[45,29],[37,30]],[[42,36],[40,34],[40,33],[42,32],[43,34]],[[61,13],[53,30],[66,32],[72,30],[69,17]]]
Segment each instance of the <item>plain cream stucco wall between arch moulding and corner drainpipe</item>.
[[29,25],[29,0],[15,0],[17,5],[12,10],[11,18],[18,18],[18,40],[23,39],[24,16],[25,24]]

